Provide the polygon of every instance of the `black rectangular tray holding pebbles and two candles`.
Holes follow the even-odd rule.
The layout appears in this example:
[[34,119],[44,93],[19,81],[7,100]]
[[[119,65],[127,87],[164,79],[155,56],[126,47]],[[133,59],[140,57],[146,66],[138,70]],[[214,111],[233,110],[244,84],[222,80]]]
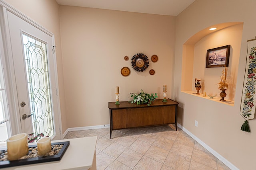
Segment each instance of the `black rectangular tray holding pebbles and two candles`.
[[[62,147],[62,149],[60,149],[60,152],[58,154],[52,155],[52,156],[40,156],[40,157],[20,159],[20,160],[0,161],[0,168],[7,168],[7,167],[11,167],[11,166],[37,164],[37,163],[51,162],[51,161],[60,160],[62,158],[62,156],[64,155],[64,153],[66,152],[68,146],[69,146],[69,141],[56,142],[56,143],[52,143],[51,145],[63,145],[63,147]],[[33,148],[33,147],[35,148],[35,147],[37,147],[37,145],[29,146],[29,148]]]

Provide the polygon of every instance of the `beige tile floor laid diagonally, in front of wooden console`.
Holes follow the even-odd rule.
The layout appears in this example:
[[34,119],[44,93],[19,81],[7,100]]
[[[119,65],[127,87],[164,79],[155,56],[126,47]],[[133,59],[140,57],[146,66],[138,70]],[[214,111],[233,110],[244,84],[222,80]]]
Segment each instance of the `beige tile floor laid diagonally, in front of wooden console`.
[[65,139],[97,136],[97,170],[230,170],[174,125],[68,132]]

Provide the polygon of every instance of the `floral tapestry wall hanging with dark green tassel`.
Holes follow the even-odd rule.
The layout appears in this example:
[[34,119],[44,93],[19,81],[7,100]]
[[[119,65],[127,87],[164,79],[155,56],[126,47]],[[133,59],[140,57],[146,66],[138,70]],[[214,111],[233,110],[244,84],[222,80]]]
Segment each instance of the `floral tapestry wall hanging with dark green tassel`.
[[250,132],[249,119],[254,119],[256,107],[256,39],[248,40],[246,72],[244,76],[244,87],[240,107],[240,115],[245,121],[241,127],[242,131]]

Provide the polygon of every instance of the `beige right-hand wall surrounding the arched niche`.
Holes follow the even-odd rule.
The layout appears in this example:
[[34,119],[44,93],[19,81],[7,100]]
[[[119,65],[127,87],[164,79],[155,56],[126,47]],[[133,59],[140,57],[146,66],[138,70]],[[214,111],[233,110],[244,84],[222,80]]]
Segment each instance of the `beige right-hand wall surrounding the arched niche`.
[[[256,1],[254,0],[248,0],[246,3],[241,0],[196,0],[177,16],[176,23],[174,99],[180,103],[179,123],[241,170],[251,170],[256,167],[254,160],[256,157],[256,152],[254,152],[256,141],[255,119],[249,121],[251,133],[240,130],[242,123],[244,123],[244,119],[240,116],[240,103],[246,64],[246,41],[255,37],[255,6]],[[238,70],[236,81],[232,82],[232,86],[236,86],[231,91],[235,94],[234,106],[212,102],[181,92],[181,71],[186,69],[182,68],[184,43],[190,37],[211,25],[237,21],[244,23],[242,41],[241,38],[239,39],[241,34],[238,35],[237,39],[230,39],[230,43],[224,39],[226,45],[234,43],[233,41],[237,41],[238,44],[241,41],[239,57],[236,58],[236,61],[230,63],[231,72]],[[216,41],[213,42],[214,46],[223,45],[222,40],[218,40],[218,43]],[[195,48],[200,50],[201,47],[198,48],[198,45],[201,46],[202,43],[199,42]],[[233,50],[238,47],[239,45],[233,46]],[[202,49],[203,53],[205,53],[205,48],[208,47]],[[197,54],[198,52],[194,53]],[[237,54],[233,53],[232,55]],[[238,63],[237,67],[236,63]],[[205,66],[204,62],[202,64]],[[217,70],[220,71],[218,68]],[[194,73],[196,73],[196,69]],[[198,127],[194,126],[195,120],[198,121]]]

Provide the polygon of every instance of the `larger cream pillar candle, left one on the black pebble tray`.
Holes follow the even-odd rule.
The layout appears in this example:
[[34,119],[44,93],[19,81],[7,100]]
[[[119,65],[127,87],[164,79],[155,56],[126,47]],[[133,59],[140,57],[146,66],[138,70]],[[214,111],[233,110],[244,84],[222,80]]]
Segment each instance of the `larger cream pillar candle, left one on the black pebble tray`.
[[28,135],[20,133],[7,139],[8,160],[17,160],[28,154]]

